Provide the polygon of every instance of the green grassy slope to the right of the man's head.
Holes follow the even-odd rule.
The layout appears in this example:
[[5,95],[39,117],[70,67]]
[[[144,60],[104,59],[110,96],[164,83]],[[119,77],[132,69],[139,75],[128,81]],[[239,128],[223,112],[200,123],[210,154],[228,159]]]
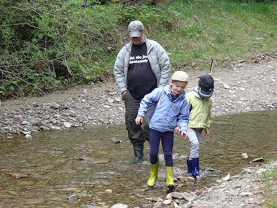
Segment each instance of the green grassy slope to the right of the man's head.
[[171,1],[166,9],[175,19],[170,30],[151,25],[146,35],[168,51],[174,70],[208,69],[211,58],[228,65],[257,54],[276,54],[277,5]]

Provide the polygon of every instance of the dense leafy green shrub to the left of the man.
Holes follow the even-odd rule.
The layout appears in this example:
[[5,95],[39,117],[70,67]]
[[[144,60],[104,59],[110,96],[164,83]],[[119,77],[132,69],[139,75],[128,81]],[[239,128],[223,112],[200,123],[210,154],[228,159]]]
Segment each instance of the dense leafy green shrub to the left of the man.
[[100,67],[111,68],[105,57],[112,55],[118,5],[85,2],[1,1],[2,99],[87,83],[105,73]]

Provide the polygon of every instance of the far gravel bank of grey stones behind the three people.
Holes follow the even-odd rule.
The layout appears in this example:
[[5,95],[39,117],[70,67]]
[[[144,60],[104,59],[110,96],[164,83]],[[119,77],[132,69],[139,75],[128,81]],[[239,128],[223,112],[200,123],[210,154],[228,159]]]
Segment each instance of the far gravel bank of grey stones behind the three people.
[[[208,71],[189,71],[186,92]],[[277,108],[277,62],[239,62],[231,69],[214,67],[213,115]],[[31,135],[40,130],[80,128],[125,122],[125,107],[114,80],[58,91],[42,97],[4,101],[0,135]],[[29,136],[28,136],[29,137]]]

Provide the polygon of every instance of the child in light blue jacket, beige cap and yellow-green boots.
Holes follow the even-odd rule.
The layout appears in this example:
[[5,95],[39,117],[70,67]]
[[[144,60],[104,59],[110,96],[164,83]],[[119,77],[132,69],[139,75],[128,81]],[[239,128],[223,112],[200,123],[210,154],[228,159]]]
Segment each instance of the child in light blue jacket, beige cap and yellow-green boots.
[[150,163],[151,175],[148,186],[154,187],[158,177],[159,168],[159,143],[163,147],[163,155],[166,160],[166,186],[175,188],[173,175],[172,148],[174,130],[179,125],[181,135],[188,137],[188,101],[184,89],[188,84],[188,74],[184,71],[173,73],[170,83],[157,87],[150,94],[146,94],[141,100],[136,125],[143,123],[150,104],[154,103],[154,110],[150,116]]

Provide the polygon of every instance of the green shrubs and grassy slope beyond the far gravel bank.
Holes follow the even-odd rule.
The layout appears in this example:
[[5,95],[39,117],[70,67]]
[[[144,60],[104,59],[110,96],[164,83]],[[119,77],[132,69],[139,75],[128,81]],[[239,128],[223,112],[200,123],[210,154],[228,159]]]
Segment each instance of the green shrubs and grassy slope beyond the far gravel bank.
[[0,1],[1,100],[112,76],[133,19],[168,51],[172,70],[276,55],[276,1],[140,2]]

